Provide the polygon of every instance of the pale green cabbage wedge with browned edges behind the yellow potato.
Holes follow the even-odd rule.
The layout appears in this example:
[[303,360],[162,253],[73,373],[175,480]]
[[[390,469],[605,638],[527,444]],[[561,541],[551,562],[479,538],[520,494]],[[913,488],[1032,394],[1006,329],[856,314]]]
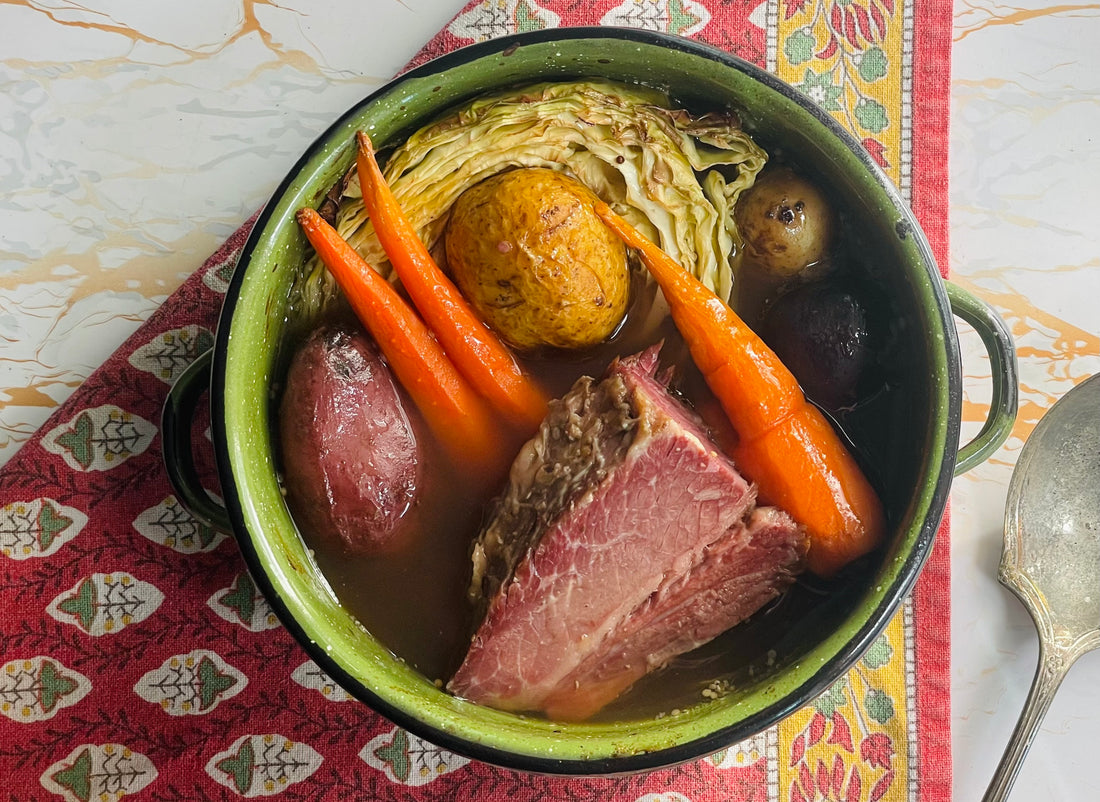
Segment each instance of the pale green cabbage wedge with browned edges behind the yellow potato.
[[[670,108],[654,89],[583,80],[477,98],[414,133],[383,172],[435,249],[451,206],[479,182],[514,167],[565,171],[728,300],[741,244],[733,207],[767,158],[733,114],[695,117]],[[337,230],[389,274],[354,175],[339,200]],[[310,267],[305,300],[312,306],[332,282],[319,263]]]

